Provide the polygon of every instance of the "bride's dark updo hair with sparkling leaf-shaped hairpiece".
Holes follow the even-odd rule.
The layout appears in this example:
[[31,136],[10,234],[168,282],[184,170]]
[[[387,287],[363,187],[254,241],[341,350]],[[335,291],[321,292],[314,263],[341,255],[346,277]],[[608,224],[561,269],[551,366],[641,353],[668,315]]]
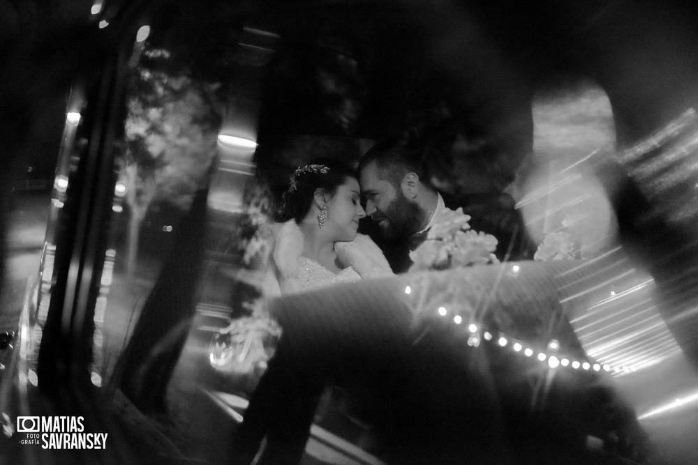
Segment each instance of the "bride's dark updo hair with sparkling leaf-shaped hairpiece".
[[334,158],[316,158],[308,165],[298,167],[291,175],[290,185],[283,193],[281,218],[284,221],[293,218],[301,222],[308,214],[315,190],[325,190],[334,195],[340,185],[348,178],[358,179],[356,171]]

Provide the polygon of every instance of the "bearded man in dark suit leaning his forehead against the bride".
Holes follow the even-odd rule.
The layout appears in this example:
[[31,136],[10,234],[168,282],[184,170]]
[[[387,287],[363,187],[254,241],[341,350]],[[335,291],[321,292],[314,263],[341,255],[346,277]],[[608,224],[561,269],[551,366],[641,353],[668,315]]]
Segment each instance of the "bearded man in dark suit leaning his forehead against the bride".
[[506,194],[470,194],[459,198],[438,192],[428,182],[422,160],[400,142],[378,142],[359,162],[366,232],[383,249],[395,273],[412,264],[409,253],[426,239],[438,214],[463,208],[470,227],[497,238],[500,261],[532,259],[535,244],[513,199]]

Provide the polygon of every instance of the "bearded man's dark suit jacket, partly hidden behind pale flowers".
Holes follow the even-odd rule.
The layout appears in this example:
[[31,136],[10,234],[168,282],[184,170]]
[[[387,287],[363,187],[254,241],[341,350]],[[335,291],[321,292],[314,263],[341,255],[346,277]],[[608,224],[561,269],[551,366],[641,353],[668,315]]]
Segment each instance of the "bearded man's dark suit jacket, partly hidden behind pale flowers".
[[[497,238],[496,256],[500,261],[531,260],[537,245],[528,235],[521,212],[514,208],[514,199],[498,192],[466,195],[448,195],[441,192],[447,208],[463,208],[470,215],[470,229],[491,234]],[[404,273],[412,264],[409,254],[424,238],[386,240],[370,218],[362,220],[360,232],[371,236],[383,250],[395,273]]]

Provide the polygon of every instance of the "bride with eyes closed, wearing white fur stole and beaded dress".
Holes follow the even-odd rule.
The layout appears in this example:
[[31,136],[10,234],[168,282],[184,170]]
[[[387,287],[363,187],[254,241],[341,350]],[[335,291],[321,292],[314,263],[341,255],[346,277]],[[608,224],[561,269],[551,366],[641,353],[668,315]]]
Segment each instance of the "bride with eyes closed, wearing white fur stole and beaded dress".
[[357,174],[338,160],[320,158],[296,169],[283,195],[287,221],[275,228],[262,294],[392,275],[378,245],[357,234],[366,216],[360,199]]

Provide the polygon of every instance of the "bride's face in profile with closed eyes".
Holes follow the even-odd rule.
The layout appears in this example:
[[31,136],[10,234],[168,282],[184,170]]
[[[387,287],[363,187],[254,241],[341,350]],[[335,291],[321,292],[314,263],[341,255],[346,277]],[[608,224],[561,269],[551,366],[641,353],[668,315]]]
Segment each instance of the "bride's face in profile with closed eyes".
[[327,226],[336,233],[336,241],[352,241],[356,237],[359,219],[366,216],[360,199],[359,181],[347,178],[327,202]]

